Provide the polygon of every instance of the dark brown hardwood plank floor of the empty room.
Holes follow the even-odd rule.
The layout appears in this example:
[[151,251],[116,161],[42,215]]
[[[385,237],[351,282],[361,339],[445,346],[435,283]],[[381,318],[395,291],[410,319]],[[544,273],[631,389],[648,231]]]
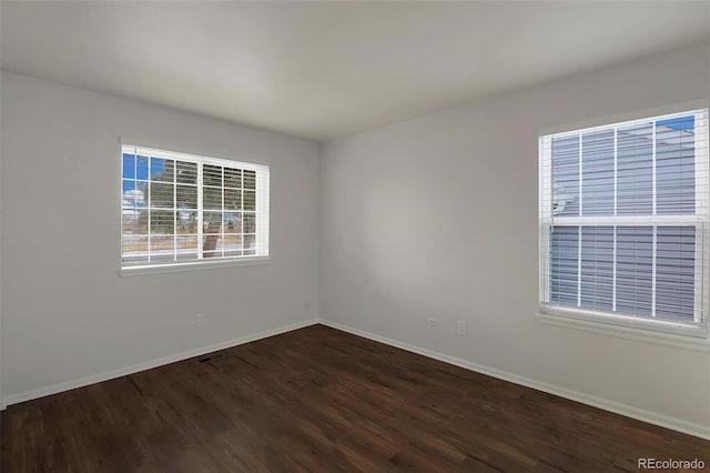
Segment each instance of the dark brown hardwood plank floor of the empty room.
[[607,472],[710,442],[314,325],[8,407],[2,472]]

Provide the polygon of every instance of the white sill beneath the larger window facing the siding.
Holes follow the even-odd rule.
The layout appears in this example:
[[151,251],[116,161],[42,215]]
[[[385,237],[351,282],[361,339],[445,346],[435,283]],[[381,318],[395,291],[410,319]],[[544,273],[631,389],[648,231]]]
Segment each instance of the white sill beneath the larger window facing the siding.
[[601,335],[616,336],[637,342],[655,343],[658,345],[672,346],[696,352],[710,352],[710,342],[708,339],[653,332],[651,330],[623,325],[611,325],[608,323],[568,318],[564,315],[549,315],[541,312],[537,312],[535,316],[539,323],[546,325],[582,330]]

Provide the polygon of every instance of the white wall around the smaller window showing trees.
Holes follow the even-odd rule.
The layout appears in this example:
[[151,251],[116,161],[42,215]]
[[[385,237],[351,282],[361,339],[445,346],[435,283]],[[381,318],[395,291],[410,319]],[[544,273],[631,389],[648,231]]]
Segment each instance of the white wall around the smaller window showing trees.
[[[317,143],[7,72],[1,100],[6,400],[317,318]],[[119,276],[119,137],[268,162],[272,262]]]

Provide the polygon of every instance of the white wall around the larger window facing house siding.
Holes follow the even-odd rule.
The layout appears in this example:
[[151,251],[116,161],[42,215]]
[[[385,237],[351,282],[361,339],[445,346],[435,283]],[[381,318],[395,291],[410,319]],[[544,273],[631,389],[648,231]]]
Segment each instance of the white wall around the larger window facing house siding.
[[328,143],[322,318],[710,435],[707,351],[535,318],[538,129],[707,99],[709,68],[688,48]]

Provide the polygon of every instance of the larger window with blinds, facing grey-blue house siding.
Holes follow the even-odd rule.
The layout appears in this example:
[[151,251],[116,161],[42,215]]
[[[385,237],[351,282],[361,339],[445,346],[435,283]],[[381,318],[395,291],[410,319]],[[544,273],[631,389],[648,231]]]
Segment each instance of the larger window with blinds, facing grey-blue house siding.
[[539,144],[540,311],[707,338],[707,109]]

